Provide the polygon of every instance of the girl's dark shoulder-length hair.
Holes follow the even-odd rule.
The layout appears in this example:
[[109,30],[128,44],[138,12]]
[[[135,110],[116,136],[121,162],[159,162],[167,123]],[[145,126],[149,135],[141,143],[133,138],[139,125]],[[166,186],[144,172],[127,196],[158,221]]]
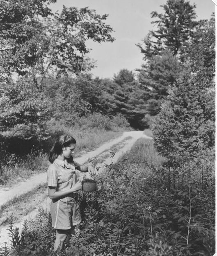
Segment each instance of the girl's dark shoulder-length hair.
[[[53,147],[50,149],[50,155],[48,160],[53,163],[53,161],[57,158],[58,155],[62,153],[62,148],[70,146],[71,144],[76,144],[76,140],[71,135],[61,135],[59,136],[53,145]],[[72,159],[70,159],[73,161]]]

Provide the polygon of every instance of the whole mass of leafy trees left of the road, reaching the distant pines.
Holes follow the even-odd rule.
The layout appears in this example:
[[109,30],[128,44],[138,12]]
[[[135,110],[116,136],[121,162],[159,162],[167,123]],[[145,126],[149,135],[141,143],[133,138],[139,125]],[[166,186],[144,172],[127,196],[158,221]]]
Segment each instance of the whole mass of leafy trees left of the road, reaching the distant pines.
[[93,63],[86,41],[114,41],[107,14],[65,6],[54,14],[49,7],[54,2],[0,2],[0,131],[46,140],[48,120],[71,126],[94,112],[116,116],[116,121],[122,115],[131,126],[143,127],[137,121],[143,110],[134,110],[139,85],[132,72],[123,70],[113,80],[88,73]]

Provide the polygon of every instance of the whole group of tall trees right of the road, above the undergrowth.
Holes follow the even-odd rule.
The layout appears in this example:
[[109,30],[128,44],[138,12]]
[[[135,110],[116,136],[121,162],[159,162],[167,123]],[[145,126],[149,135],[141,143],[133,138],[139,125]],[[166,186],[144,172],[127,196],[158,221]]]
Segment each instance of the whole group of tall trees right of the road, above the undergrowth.
[[215,17],[196,21],[196,5],[185,0],[161,7],[151,14],[156,30],[138,45],[146,60],[139,82],[155,116],[155,147],[175,167],[215,144]]

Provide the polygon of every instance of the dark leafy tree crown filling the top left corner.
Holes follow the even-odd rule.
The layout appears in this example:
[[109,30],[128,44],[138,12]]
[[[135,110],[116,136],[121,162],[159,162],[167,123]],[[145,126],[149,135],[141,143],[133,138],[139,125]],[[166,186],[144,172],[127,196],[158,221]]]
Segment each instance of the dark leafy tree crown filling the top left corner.
[[1,75],[24,75],[37,61],[37,42],[44,34],[43,19],[51,15],[51,2],[55,1],[0,1]]

